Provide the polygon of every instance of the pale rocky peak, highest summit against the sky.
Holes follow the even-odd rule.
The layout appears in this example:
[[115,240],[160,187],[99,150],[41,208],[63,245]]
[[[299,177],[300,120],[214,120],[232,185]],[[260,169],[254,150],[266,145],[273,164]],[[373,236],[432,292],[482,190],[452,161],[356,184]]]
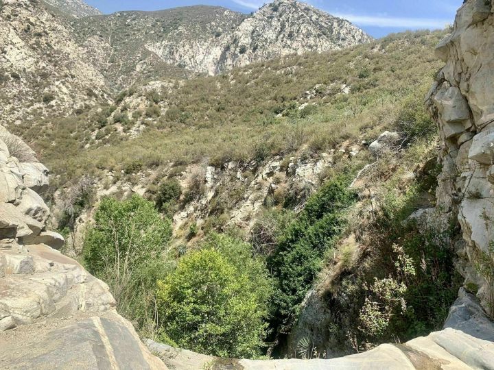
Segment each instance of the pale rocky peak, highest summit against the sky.
[[343,49],[371,39],[349,21],[307,3],[277,0],[235,29],[217,72],[288,54]]

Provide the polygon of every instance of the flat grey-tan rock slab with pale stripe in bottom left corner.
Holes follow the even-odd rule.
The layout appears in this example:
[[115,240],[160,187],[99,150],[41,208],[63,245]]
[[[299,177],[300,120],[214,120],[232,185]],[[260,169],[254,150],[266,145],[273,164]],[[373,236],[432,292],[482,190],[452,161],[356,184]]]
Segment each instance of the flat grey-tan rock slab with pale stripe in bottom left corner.
[[0,349],[2,369],[167,369],[116,315],[91,317]]

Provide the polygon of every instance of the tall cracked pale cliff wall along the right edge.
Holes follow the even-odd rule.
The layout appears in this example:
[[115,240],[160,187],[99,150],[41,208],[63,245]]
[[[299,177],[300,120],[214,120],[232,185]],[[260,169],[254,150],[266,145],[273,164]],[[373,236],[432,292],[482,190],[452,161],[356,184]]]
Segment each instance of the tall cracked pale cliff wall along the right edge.
[[[466,1],[453,33],[436,52],[446,65],[427,97],[438,122],[443,173],[437,190],[443,223],[460,223],[459,269],[478,288],[484,308],[494,314],[494,3]],[[482,262],[484,270],[475,267]],[[491,266],[494,262],[491,263]]]

